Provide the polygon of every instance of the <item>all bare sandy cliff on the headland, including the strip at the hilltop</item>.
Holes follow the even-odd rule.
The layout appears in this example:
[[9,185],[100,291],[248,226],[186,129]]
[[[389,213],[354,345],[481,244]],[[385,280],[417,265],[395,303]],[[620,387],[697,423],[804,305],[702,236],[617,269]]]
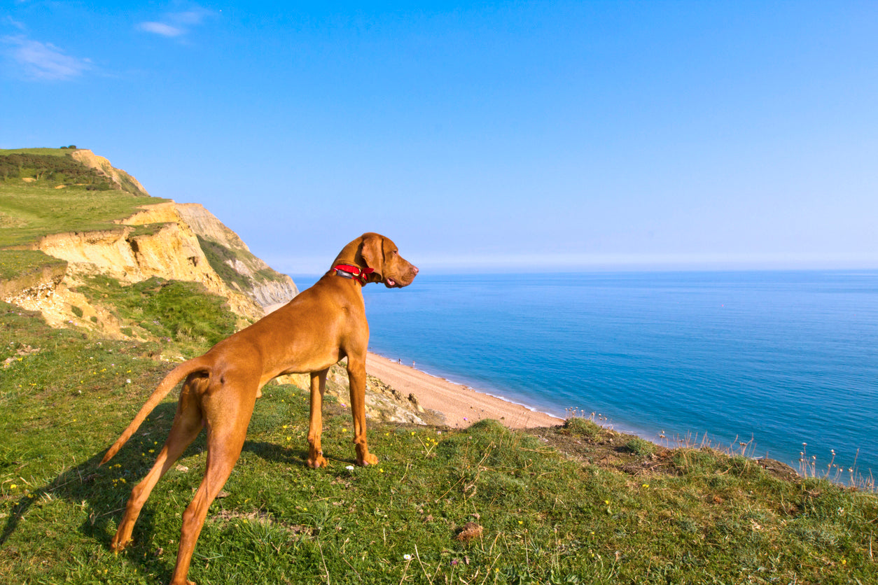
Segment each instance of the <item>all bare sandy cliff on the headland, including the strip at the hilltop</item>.
[[[53,325],[68,321],[94,328],[97,310],[70,289],[84,276],[108,275],[123,283],[159,277],[200,282],[223,296],[243,319],[262,317],[263,307],[285,303],[298,294],[292,279],[271,269],[250,253],[236,233],[198,203],[162,202],[148,196],[133,176],[113,168],[110,161],[90,150],[70,156],[106,176],[120,190],[143,197],[140,210],[115,223],[118,228],[54,233],[31,245],[59,260],[51,270],[13,277],[3,282],[0,298],[31,310],[40,310]],[[73,307],[77,310],[74,311]],[[85,316],[77,317],[83,310]],[[107,333],[112,333],[106,330]]]

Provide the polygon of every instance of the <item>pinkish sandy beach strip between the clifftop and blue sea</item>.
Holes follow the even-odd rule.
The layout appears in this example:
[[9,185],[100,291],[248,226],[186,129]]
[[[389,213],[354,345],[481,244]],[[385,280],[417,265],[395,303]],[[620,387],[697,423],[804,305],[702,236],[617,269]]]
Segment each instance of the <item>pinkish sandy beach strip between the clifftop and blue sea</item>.
[[442,412],[445,424],[452,428],[465,428],[483,418],[493,418],[515,429],[564,423],[560,418],[425,374],[375,353],[370,353],[366,360],[366,372],[399,390],[403,396],[414,394],[425,409]]

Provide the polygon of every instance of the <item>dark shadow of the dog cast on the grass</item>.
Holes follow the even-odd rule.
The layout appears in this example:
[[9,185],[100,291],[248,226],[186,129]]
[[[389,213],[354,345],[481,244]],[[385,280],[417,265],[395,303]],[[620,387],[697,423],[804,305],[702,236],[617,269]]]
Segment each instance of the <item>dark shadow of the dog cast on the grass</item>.
[[[144,460],[142,453],[147,453],[150,449],[157,452],[156,440],[158,440],[159,445],[163,445],[175,411],[176,403],[163,403],[156,407],[138,432],[106,465],[98,467],[98,463],[104,457],[104,451],[95,453],[76,467],[69,467],[46,485],[33,489],[29,494],[19,498],[9,511],[3,530],[0,531],[0,546],[4,546],[6,541],[10,539],[34,504],[40,503],[45,498],[61,498],[77,505],[87,504],[90,514],[83,521],[83,524],[80,524],[78,531],[109,549],[110,539],[112,539],[115,526],[119,524],[125,511],[125,504],[128,496],[131,495],[131,488],[140,482],[155,462],[155,459]],[[161,440],[157,438],[161,438]],[[109,446],[108,444],[107,447]],[[198,439],[193,441],[183,453],[181,459],[200,453],[205,448],[205,433],[201,432]],[[307,467],[308,452],[306,448],[301,448],[301,446],[298,448],[285,447],[264,441],[246,441],[242,452],[253,453],[260,459],[286,466]],[[125,478],[126,489],[118,489],[120,477]],[[201,477],[199,476],[196,485],[200,481]],[[142,541],[147,541],[148,537],[155,532],[154,518],[149,508],[150,501],[144,506],[134,529],[135,536],[138,536],[137,539]],[[182,512],[182,510],[180,511]],[[135,564],[145,565],[146,562],[139,557],[140,555],[129,555],[128,560]],[[161,577],[162,580],[167,581],[170,578],[172,568],[168,567],[167,574],[163,574]],[[155,565],[150,567],[150,570],[155,571]]]

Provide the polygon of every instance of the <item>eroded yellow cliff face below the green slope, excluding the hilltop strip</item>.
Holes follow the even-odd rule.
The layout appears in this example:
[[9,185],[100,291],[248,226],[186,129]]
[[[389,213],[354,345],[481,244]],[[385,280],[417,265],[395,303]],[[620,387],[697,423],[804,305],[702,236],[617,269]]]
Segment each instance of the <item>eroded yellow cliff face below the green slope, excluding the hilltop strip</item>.
[[[181,210],[183,212],[181,213]],[[186,218],[184,218],[186,216]],[[187,218],[195,218],[193,229]],[[200,246],[198,236],[222,246],[242,250],[241,259],[230,268],[248,276],[253,288],[237,282],[230,286],[217,274]],[[119,327],[86,299],[70,289],[83,276],[102,274],[133,283],[153,276],[163,279],[200,282],[210,292],[227,299],[240,317],[255,321],[264,314],[263,306],[284,303],[298,293],[292,279],[278,275],[249,253],[241,238],[197,203],[174,202],[145,205],[130,218],[119,221],[119,228],[98,232],[68,232],[45,236],[34,246],[54,258],[65,260],[63,275],[52,275],[46,282],[33,282],[26,289],[6,291],[4,300],[29,310],[40,310],[47,322],[63,325],[73,322],[113,335]],[[272,280],[257,279],[259,271],[272,273]],[[77,316],[73,307],[83,311]]]

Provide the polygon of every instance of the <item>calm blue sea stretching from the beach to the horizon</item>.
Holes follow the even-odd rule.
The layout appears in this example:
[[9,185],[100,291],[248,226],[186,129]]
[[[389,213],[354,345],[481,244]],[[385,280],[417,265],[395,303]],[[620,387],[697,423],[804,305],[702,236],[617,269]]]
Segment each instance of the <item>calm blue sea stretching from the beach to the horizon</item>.
[[878,475],[878,271],[422,272],[363,296],[372,352],[451,382],[661,445]]

